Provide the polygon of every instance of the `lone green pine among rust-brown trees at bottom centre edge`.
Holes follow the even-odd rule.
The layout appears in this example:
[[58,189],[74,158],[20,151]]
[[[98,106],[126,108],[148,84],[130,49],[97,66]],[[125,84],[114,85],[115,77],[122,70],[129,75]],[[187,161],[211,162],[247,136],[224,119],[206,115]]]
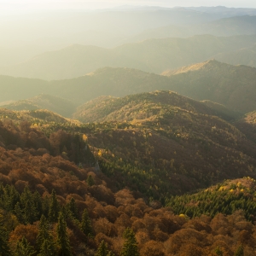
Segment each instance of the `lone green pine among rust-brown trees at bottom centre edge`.
[[137,240],[133,230],[126,229],[124,238],[125,244],[122,248],[121,256],[138,256]]

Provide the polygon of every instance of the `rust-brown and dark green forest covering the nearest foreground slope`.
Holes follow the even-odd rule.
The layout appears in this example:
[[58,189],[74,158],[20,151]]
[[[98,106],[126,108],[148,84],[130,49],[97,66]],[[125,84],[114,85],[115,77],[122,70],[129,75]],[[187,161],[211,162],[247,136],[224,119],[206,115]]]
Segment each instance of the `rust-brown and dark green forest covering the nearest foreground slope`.
[[117,189],[84,134],[0,125],[2,255],[253,255],[253,179],[172,196],[162,207]]

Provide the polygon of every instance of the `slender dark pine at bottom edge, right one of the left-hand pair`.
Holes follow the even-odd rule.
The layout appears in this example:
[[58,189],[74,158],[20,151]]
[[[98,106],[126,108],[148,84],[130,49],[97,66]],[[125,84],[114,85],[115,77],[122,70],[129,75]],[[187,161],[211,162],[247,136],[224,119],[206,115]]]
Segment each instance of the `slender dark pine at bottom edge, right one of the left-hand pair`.
[[63,217],[62,212],[60,212],[57,225],[57,246],[58,255],[60,256],[71,256],[71,247],[69,244],[69,237],[67,235],[67,224]]

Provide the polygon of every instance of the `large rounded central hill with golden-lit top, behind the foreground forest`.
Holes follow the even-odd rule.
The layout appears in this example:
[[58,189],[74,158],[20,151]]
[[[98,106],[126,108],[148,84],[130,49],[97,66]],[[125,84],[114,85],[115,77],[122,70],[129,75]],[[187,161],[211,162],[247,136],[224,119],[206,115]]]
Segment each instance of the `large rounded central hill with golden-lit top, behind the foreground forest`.
[[84,131],[104,173],[160,198],[253,175],[256,145],[216,114],[203,102],[154,91],[100,97],[78,108],[74,117],[95,122]]

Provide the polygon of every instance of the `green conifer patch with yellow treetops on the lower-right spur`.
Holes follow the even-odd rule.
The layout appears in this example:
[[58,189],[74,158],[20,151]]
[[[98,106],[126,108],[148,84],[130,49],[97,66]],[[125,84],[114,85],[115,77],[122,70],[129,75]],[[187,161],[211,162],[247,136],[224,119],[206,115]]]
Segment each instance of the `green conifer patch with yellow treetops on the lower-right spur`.
[[[255,183],[254,180],[247,180],[247,178],[241,179],[242,182],[248,182],[251,185]],[[218,212],[230,215],[237,210],[243,210],[245,217],[254,221],[256,219],[254,193],[255,191],[249,187],[226,182],[195,194],[172,196],[166,200],[166,206],[171,207],[175,214],[184,213],[189,218],[201,216],[201,214],[214,217]]]

